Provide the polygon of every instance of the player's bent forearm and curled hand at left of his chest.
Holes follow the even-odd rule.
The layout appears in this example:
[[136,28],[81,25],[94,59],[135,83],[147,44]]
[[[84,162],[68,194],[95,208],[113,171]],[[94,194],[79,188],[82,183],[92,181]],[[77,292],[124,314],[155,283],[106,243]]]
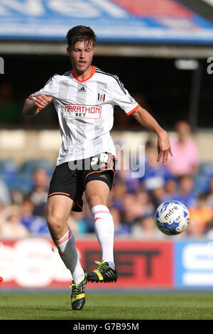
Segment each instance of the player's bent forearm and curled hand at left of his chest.
[[23,105],[23,114],[29,117],[37,115],[40,110],[44,109],[52,101],[52,99],[53,97],[44,94],[39,95],[35,101],[29,98],[26,99]]

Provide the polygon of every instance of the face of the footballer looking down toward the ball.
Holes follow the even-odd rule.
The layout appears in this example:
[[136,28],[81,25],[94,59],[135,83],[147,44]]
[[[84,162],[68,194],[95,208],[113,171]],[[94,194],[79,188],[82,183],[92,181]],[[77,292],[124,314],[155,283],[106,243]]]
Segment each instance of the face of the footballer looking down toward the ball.
[[77,42],[73,48],[67,48],[75,72],[83,73],[90,68],[94,55],[94,45],[89,42]]

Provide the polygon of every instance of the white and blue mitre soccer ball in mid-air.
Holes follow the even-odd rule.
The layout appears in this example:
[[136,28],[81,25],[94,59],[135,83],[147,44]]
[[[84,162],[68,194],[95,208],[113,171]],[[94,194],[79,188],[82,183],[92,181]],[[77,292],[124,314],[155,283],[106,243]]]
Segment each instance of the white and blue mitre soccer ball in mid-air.
[[185,205],[178,200],[168,200],[158,206],[155,222],[165,235],[179,235],[187,229],[190,214]]

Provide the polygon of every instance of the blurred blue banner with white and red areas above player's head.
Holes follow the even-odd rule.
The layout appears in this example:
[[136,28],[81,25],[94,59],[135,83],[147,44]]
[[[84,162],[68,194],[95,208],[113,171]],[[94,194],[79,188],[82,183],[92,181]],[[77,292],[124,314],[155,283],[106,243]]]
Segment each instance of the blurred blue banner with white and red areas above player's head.
[[76,25],[100,42],[213,43],[213,24],[174,0],[0,0],[0,38],[65,41]]

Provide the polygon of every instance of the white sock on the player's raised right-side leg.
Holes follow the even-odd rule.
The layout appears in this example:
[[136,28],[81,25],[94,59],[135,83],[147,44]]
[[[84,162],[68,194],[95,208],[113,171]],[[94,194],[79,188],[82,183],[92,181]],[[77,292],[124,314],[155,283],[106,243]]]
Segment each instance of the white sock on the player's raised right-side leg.
[[106,205],[95,205],[91,210],[94,231],[102,249],[102,259],[114,269],[114,221]]

